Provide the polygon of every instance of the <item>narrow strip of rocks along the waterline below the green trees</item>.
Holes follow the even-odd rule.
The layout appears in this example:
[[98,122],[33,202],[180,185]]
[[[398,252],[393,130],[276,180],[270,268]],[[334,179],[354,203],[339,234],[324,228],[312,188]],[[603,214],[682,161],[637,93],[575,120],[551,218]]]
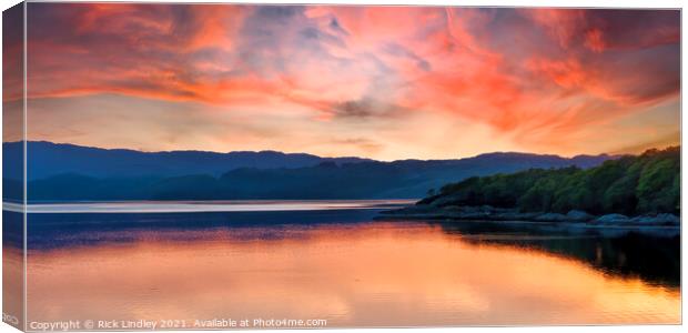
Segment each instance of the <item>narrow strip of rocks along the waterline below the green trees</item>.
[[571,210],[566,214],[547,212],[520,212],[515,209],[482,206],[436,206],[415,204],[381,213],[384,220],[466,220],[466,221],[525,221],[525,222],[566,222],[590,225],[619,226],[679,226],[680,218],[674,214],[646,214],[626,216],[623,214],[593,215],[584,211]]

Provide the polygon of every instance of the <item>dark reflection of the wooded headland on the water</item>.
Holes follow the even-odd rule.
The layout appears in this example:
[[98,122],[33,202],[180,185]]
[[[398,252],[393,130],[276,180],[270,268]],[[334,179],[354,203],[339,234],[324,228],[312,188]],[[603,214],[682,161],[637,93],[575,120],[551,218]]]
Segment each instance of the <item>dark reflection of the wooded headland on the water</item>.
[[649,283],[680,285],[680,236],[628,232],[606,236],[598,231],[543,228],[543,223],[438,223],[472,244],[536,249],[580,260],[609,274]]

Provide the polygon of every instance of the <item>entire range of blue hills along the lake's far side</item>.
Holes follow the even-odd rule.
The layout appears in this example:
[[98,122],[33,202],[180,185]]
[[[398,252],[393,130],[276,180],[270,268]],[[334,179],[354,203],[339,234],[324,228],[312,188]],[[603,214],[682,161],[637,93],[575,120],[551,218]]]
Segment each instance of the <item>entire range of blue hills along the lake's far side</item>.
[[[4,149],[17,148],[14,143]],[[488,153],[380,162],[280,152],[138,152],[29,142],[30,201],[422,198],[469,176],[533,168],[591,168],[609,155],[566,159]]]

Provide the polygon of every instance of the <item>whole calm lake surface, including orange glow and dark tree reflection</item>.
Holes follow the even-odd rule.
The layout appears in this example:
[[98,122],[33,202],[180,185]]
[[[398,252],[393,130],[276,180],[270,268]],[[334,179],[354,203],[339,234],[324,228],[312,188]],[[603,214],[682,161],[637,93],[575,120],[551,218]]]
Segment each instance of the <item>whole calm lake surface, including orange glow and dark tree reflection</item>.
[[678,238],[373,220],[395,203],[43,206],[29,215],[28,320],[680,322]]

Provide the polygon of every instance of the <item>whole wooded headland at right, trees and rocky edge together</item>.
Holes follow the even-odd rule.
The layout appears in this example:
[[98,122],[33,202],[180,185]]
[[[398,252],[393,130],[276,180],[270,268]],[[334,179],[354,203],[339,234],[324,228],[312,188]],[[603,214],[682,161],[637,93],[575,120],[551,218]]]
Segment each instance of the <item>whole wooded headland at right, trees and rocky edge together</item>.
[[680,147],[590,169],[529,169],[445,184],[381,219],[528,221],[680,233]]

